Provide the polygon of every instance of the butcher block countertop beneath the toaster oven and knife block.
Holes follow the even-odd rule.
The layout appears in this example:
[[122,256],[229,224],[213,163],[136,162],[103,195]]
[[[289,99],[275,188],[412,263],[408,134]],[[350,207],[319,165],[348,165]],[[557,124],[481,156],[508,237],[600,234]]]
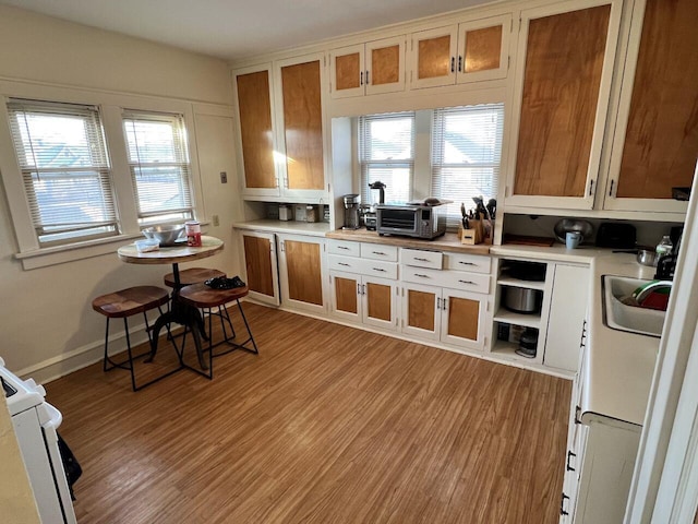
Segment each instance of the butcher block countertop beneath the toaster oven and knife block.
[[455,233],[447,233],[446,235],[436,237],[433,240],[424,240],[411,237],[382,237],[376,231],[366,231],[365,228],[361,228],[335,229],[334,231],[326,233],[325,237],[354,242],[383,243],[386,246],[397,246],[399,248],[426,249],[433,251],[448,251],[469,254],[490,254],[491,247],[490,243],[478,243],[476,246],[460,243],[460,240]]

